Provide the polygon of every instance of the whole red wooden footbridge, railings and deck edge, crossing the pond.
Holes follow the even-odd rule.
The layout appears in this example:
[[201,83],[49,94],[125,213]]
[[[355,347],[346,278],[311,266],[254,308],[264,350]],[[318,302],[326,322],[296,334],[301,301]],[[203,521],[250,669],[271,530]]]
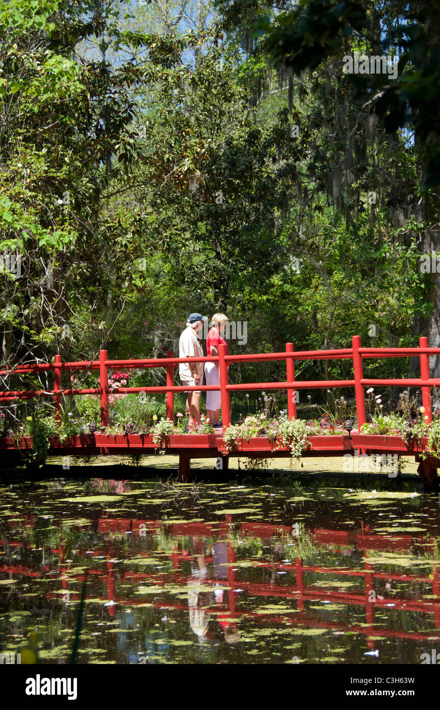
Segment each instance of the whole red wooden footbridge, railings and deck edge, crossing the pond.
[[[50,397],[55,403],[55,417],[60,417],[63,395],[87,396],[99,395],[101,398],[101,430],[94,432],[94,435],[80,435],[69,437],[65,444],[60,444],[57,439],[52,439],[52,446],[49,454],[69,455],[69,454],[126,454],[130,453],[152,453],[157,451],[159,444],[154,443],[149,435],[106,435],[105,429],[109,424],[109,394],[108,371],[115,368],[137,369],[137,368],[166,368],[167,382],[163,386],[151,387],[118,387],[112,388],[111,394],[128,393],[165,393],[167,402],[167,417],[174,420],[174,393],[188,391],[218,391],[220,389],[222,403],[222,423],[223,429],[231,423],[230,413],[230,393],[237,391],[286,391],[288,398],[288,417],[296,417],[296,393],[306,389],[334,389],[334,388],[354,388],[356,395],[357,429],[346,436],[311,436],[308,437],[308,449],[303,452],[303,456],[308,457],[331,457],[343,456],[344,454],[357,455],[381,454],[383,452],[393,454],[410,454],[419,461],[419,475],[422,477],[426,487],[437,486],[437,467],[439,459],[428,456],[423,460],[420,456],[427,442],[426,439],[414,442],[410,447],[405,444],[399,436],[373,436],[361,434],[361,426],[366,423],[365,388],[369,386],[377,387],[405,387],[421,388],[422,404],[428,422],[432,421],[431,408],[431,388],[440,386],[440,378],[433,378],[429,375],[429,356],[440,354],[440,348],[428,347],[427,337],[419,339],[419,347],[389,347],[371,348],[362,347],[361,338],[358,335],[352,337],[350,348],[334,350],[316,351],[294,351],[293,344],[286,344],[286,351],[278,353],[257,353],[244,355],[226,354],[225,346],[220,345],[218,356],[179,358],[174,356],[172,351],[167,353],[166,358],[158,359],[130,359],[111,360],[108,359],[108,352],[101,350],[99,359],[94,361],[63,362],[59,355],[55,355],[52,363],[39,363],[30,365],[20,365],[15,368],[0,369],[0,376],[5,382],[7,378],[18,375],[38,375],[45,372],[54,373],[54,386],[52,390],[26,390],[13,391],[8,389],[0,390],[0,405],[16,400],[29,400],[32,398]],[[363,361],[365,359],[382,359],[393,357],[417,357],[420,363],[419,378],[394,378],[378,379],[363,375]],[[354,377],[349,380],[316,380],[302,381],[295,379],[295,361],[304,360],[351,360],[353,362]],[[257,362],[257,361],[285,361],[286,381],[283,382],[257,382],[257,383],[230,383],[228,379],[227,367],[230,363]],[[186,362],[218,362],[220,372],[220,386],[176,386],[174,374],[179,363]],[[62,388],[63,371],[98,371],[98,388]],[[289,449],[279,446],[274,447],[274,442],[266,437],[255,437],[243,439],[237,442],[232,449],[227,449],[222,432],[210,435],[171,435],[167,439],[167,452],[179,454],[179,479],[185,481],[190,475],[191,459],[213,457],[220,461],[219,468],[225,469],[229,457],[288,457]],[[279,446],[279,447],[278,447]],[[14,437],[0,437],[1,459],[7,462],[13,460],[13,454],[17,449],[21,452],[30,451],[33,442],[30,437],[21,437],[16,440]]]

